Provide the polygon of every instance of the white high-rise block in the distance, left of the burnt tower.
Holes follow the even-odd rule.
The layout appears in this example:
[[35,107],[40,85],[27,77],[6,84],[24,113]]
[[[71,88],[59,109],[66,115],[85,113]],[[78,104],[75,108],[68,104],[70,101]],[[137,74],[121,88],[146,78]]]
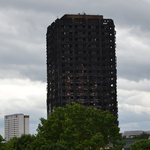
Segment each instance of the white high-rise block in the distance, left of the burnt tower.
[[29,115],[6,115],[4,118],[4,125],[6,141],[9,141],[13,137],[29,134]]

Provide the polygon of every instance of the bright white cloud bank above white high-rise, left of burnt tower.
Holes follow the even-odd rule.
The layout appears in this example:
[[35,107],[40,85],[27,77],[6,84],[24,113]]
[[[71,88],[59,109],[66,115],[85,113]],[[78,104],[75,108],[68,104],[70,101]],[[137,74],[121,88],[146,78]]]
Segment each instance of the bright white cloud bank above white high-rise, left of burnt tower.
[[[31,133],[36,132],[39,118],[46,118],[46,83],[30,79],[0,79],[0,120],[4,115],[30,115]],[[2,123],[0,124],[2,128]]]

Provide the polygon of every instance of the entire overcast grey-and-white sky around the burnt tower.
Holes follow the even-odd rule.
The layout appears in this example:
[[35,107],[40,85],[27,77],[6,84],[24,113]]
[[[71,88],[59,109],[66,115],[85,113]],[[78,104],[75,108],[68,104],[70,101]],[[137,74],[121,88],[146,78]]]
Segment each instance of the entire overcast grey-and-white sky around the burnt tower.
[[46,30],[64,14],[99,14],[116,26],[119,126],[150,130],[149,0],[0,0],[0,134],[4,115],[46,118]]

